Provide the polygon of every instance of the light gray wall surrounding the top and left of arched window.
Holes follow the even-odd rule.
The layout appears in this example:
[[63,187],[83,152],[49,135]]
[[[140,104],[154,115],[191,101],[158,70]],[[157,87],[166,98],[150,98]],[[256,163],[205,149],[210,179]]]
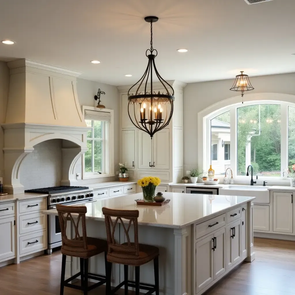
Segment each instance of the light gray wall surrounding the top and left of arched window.
[[[250,77],[250,81],[255,88],[250,93],[295,95],[295,73]],[[198,163],[198,112],[224,99],[237,96],[236,92],[229,90],[233,82],[234,79],[189,83],[185,87],[183,92],[184,171],[197,167]]]

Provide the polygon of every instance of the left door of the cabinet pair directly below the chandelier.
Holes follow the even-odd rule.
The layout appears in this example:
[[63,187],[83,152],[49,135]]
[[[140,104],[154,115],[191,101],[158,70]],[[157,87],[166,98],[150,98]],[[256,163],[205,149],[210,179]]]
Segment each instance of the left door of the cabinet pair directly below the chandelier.
[[152,163],[152,140],[148,133],[138,130],[138,168],[151,169]]

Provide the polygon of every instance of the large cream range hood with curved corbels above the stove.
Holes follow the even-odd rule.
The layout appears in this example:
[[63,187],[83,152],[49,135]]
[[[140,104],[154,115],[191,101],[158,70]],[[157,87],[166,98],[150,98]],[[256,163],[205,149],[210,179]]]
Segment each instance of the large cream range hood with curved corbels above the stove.
[[74,166],[87,150],[87,130],[77,96],[81,74],[65,68],[21,59],[10,68],[4,129],[4,189],[22,193],[19,167],[34,145],[66,140],[62,148],[62,184],[76,182]]

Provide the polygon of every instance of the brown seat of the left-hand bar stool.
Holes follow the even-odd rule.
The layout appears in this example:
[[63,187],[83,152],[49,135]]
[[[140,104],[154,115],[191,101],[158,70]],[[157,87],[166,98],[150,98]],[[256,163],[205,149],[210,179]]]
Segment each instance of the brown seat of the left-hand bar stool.
[[[80,237],[83,241],[83,237]],[[108,242],[106,240],[87,237],[87,248],[77,248],[73,246],[63,245],[61,248],[61,253],[68,256],[78,257],[78,258],[90,258],[94,255],[105,252],[108,248]]]

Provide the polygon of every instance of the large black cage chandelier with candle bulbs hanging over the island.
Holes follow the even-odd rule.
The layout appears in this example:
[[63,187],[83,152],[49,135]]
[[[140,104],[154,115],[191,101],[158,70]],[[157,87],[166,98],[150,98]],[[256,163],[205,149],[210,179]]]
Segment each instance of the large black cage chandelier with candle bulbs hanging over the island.
[[[135,127],[147,132],[152,138],[156,132],[165,128],[172,118],[174,90],[160,76],[155,65],[158,52],[153,48],[153,22],[157,22],[158,17],[145,17],[145,21],[150,22],[150,49],[145,52],[148,66],[140,80],[128,91],[128,114]],[[153,75],[160,81],[160,86],[157,85],[156,88],[165,89],[164,92],[155,91]]]

